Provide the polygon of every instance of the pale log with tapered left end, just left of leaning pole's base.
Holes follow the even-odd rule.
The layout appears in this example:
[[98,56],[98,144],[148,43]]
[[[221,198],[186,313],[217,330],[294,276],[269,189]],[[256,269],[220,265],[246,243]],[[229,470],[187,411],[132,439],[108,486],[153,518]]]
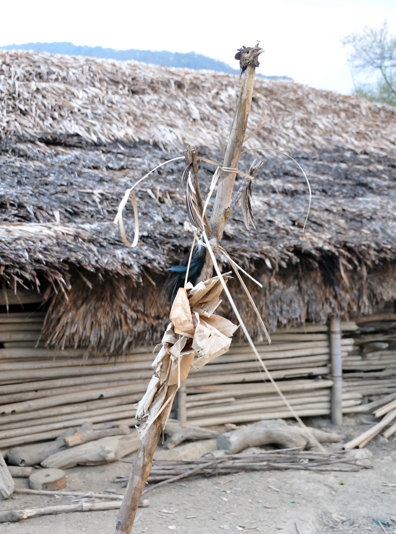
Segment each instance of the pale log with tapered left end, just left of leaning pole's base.
[[126,436],[102,437],[96,441],[77,445],[45,458],[44,467],[69,469],[76,465],[99,465],[114,462],[139,449],[140,438],[137,430]]

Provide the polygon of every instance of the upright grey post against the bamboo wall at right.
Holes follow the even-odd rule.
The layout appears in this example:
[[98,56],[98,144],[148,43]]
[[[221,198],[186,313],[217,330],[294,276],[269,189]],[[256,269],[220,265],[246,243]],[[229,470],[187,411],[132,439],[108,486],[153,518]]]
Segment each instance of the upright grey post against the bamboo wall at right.
[[341,327],[338,317],[330,317],[330,356],[332,358],[332,423],[342,425]]

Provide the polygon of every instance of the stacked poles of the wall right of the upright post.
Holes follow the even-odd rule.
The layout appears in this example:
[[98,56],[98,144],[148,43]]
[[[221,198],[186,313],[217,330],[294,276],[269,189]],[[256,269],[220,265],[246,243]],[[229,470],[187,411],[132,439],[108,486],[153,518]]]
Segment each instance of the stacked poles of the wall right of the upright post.
[[396,391],[396,314],[363,317],[356,323],[354,348],[343,357],[344,392],[359,392],[366,403]]

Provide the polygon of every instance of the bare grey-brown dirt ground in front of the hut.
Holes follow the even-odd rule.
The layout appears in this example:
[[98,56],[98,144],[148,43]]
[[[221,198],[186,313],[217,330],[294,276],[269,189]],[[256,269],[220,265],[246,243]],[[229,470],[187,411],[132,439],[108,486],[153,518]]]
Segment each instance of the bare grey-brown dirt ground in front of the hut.
[[[367,430],[367,416],[345,418],[343,441]],[[324,424],[316,421],[315,426]],[[332,445],[332,448],[337,448]],[[150,507],[139,509],[133,532],[216,534],[222,531],[284,534],[317,532],[396,533],[396,443],[376,437],[369,443],[373,469],[354,472],[310,471],[238,473],[165,485],[147,495]],[[120,490],[114,483],[128,473],[123,462],[68,469],[68,490]],[[17,479],[17,486],[28,487]],[[387,483],[395,484],[394,487]],[[71,498],[18,495],[0,509],[70,504]],[[0,524],[0,534],[112,534],[117,510],[42,516]],[[385,524],[378,523],[382,520]]]

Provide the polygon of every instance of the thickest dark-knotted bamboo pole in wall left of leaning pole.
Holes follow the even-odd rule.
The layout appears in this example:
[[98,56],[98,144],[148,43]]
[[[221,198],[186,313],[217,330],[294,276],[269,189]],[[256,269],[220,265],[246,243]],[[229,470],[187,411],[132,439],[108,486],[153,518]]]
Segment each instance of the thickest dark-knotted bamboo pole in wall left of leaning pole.
[[86,400],[99,398],[118,397],[120,395],[130,395],[146,391],[147,381],[138,381],[125,386],[104,387],[97,389],[88,389],[86,391],[75,391],[53,397],[44,397],[39,399],[27,400],[26,402],[5,404],[0,406],[0,415],[10,413],[32,412],[41,408],[50,406],[59,406],[61,404],[74,404]]

